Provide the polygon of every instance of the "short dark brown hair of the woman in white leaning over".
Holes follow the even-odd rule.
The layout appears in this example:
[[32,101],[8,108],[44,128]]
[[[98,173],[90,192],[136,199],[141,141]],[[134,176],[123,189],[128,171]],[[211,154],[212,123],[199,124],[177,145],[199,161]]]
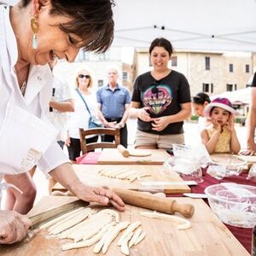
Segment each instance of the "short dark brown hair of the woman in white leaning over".
[[[26,7],[32,0],[22,0]],[[51,0],[49,15],[63,15],[73,20],[59,27],[63,32],[82,38],[84,50],[105,52],[113,41],[113,0]]]

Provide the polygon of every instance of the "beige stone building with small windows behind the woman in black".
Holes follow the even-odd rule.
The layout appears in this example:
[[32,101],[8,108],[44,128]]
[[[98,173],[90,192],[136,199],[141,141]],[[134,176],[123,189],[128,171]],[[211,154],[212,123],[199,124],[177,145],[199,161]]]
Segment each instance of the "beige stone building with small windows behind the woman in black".
[[[148,49],[137,49],[135,55],[135,76],[151,69]],[[246,88],[256,66],[256,55],[176,51],[169,64],[189,80],[191,95],[205,91],[211,96]]]

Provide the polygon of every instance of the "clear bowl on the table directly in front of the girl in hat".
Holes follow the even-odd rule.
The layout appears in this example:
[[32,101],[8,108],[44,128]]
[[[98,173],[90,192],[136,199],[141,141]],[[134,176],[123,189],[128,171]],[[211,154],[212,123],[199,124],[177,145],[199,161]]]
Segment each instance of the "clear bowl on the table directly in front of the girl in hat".
[[212,154],[210,163],[213,166],[224,166],[225,177],[229,177],[232,175],[238,176],[246,166],[247,160],[233,154]]

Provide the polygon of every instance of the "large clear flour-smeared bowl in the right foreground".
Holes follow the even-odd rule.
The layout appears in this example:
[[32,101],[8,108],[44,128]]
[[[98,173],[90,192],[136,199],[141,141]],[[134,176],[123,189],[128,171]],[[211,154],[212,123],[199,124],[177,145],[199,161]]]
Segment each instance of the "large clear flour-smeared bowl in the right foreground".
[[224,224],[253,228],[256,224],[256,187],[220,183],[205,189],[212,211]]

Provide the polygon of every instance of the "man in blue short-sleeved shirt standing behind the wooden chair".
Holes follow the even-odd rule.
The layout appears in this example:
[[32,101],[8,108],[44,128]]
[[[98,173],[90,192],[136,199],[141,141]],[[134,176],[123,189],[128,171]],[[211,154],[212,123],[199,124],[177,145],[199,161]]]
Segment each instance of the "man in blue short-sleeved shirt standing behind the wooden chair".
[[[129,118],[131,103],[130,91],[117,83],[118,71],[116,68],[108,69],[108,84],[96,92],[98,103],[98,118],[105,127],[119,128],[121,144],[127,148],[126,121]],[[105,136],[104,142],[113,142],[113,136]]]

